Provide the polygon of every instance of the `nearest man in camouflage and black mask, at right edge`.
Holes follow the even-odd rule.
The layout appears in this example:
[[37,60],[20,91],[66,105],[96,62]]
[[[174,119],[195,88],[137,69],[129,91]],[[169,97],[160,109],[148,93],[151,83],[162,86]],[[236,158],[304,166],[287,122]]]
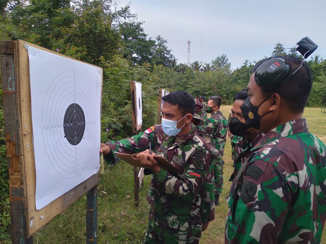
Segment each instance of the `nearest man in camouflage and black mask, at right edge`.
[[[289,67],[288,72],[274,78],[271,71],[262,78],[270,65],[273,70]],[[250,98],[241,110],[246,127],[265,135],[247,152],[232,182],[225,243],[320,243],[326,217],[326,146],[302,117],[313,75],[305,63],[300,65],[293,56],[273,58],[250,78]]]

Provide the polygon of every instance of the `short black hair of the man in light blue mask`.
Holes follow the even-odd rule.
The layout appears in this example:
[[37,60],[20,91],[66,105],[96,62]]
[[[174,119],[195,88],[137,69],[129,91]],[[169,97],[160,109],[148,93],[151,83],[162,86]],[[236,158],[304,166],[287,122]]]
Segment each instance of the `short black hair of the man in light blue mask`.
[[162,97],[162,102],[178,105],[178,109],[185,115],[195,113],[195,100],[194,97],[185,91],[174,91]]

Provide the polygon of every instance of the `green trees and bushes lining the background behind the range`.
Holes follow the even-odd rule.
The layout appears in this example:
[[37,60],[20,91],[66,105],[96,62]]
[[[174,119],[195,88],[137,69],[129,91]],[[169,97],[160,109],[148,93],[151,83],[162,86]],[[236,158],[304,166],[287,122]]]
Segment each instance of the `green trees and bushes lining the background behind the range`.
[[[102,67],[102,142],[131,136],[131,80],[142,83],[145,129],[156,123],[159,88],[217,95],[231,104],[234,93],[246,87],[256,62],[245,60],[232,70],[227,54],[220,54],[210,63],[178,63],[167,40],[148,37],[129,7],[113,0],[3,0],[0,40],[22,39]],[[282,47],[277,43],[273,53]],[[307,63],[316,73],[307,105],[318,107],[326,104],[326,61],[315,55]],[[0,239],[6,240],[10,218],[2,87],[0,100]]]

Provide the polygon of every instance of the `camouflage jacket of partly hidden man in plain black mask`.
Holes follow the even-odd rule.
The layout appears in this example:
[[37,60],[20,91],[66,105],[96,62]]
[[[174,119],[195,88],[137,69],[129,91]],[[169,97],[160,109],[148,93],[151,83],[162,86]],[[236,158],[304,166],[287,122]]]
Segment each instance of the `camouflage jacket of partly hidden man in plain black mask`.
[[254,140],[248,140],[245,137],[242,136],[234,136],[232,143],[234,143],[234,156],[233,156],[233,162],[234,162],[234,171],[230,177],[229,181],[233,181],[234,178],[237,176],[237,173],[241,167],[241,165],[244,164],[244,161],[246,160],[245,155],[249,152],[250,149],[253,148],[262,138],[264,134],[259,132],[257,136],[254,138]]

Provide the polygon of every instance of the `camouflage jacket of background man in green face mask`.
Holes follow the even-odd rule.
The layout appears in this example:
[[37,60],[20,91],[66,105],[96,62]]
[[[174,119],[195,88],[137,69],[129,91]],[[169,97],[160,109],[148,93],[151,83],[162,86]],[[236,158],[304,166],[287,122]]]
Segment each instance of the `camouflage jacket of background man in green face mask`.
[[214,112],[206,120],[205,133],[212,138],[216,149],[219,151],[218,158],[222,158],[224,153],[228,125],[228,120],[222,115],[221,111]]

